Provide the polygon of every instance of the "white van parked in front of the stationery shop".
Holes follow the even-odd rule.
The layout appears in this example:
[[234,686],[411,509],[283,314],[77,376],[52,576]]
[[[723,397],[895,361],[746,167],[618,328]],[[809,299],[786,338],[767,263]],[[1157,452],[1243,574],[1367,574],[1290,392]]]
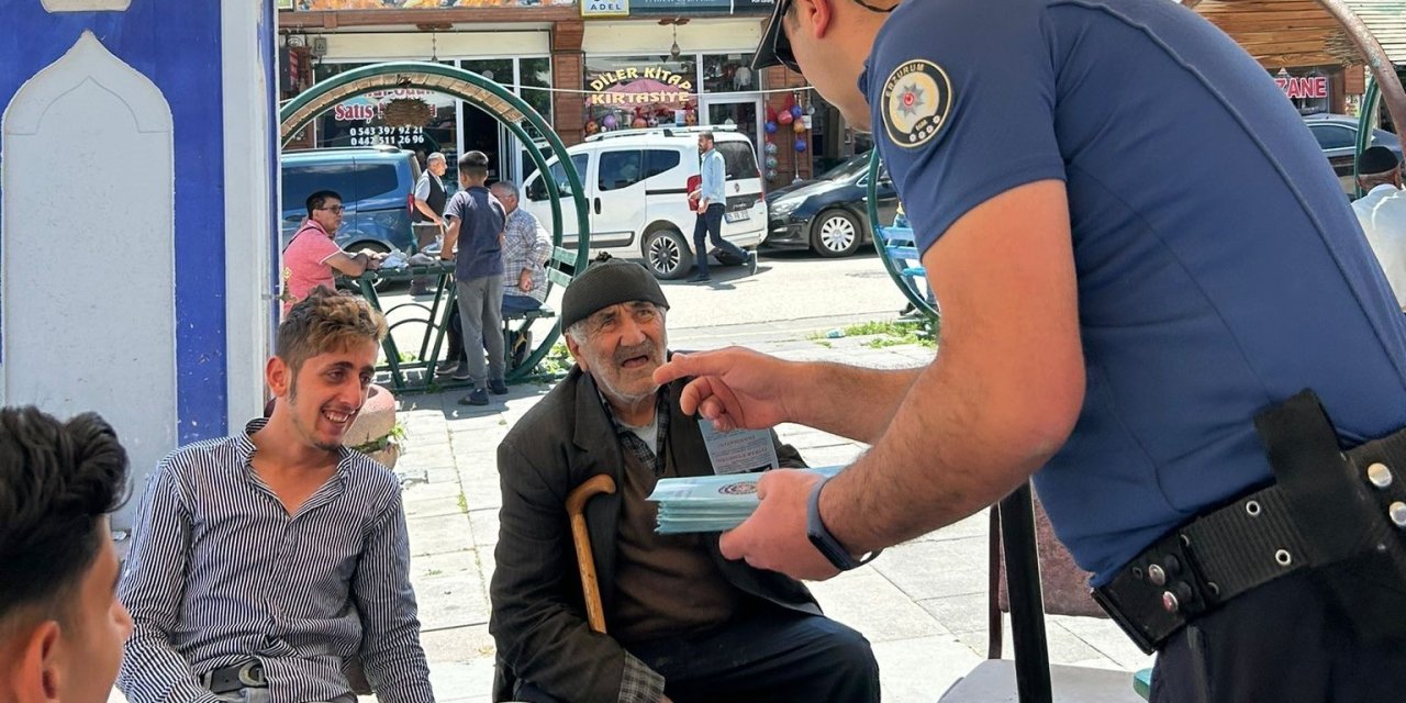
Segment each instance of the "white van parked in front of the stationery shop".
[[[693,225],[688,180],[699,173],[697,135],[707,128],[621,129],[586,138],[567,148],[585,187],[591,208],[591,250],[644,259],[654,276],[682,278],[693,270]],[[766,238],[766,198],[756,150],[747,135],[713,128],[714,143],[727,165],[727,212],[723,238],[755,249]],[[557,163],[548,173],[561,188],[562,243],[576,242],[575,202]],[[551,229],[551,201],[541,173],[527,177],[522,207]],[[738,262],[725,262],[738,263]]]

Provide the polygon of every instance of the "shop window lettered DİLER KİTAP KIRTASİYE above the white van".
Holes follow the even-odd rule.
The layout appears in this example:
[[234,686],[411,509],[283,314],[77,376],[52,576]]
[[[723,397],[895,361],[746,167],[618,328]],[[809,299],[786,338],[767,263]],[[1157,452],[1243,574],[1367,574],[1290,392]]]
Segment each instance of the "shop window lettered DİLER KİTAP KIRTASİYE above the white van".
[[697,56],[588,56],[586,134],[699,121]]

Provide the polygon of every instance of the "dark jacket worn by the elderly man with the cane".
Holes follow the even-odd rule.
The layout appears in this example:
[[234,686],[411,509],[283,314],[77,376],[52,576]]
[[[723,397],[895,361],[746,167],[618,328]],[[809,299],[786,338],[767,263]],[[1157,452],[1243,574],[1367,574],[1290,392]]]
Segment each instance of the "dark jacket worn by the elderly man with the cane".
[[[669,453],[681,475],[711,474],[697,419],[683,415],[679,391],[669,396]],[[800,454],[772,433],[782,465],[803,467]],[[547,396],[498,446],[503,506],[489,596],[488,628],[498,644],[494,700],[512,697],[520,678],[557,697],[613,702],[619,696],[624,650],[586,624],[581,576],[567,522],[567,494],[596,474],[621,484],[624,467],[595,381],[572,367]],[[610,628],[614,600],[616,529],[620,494],[598,495],[586,503],[586,527]],[[713,540],[710,553],[724,578],[745,593],[783,607],[820,614],[800,582],[741,561],[723,558]]]

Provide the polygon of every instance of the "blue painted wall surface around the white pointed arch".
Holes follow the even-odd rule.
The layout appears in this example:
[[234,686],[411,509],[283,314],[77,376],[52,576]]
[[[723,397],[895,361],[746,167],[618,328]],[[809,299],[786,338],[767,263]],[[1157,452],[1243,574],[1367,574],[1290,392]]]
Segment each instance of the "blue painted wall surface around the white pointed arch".
[[[181,443],[217,437],[229,429],[219,7],[218,0],[132,0],[125,13],[49,14],[39,0],[0,1],[0,110],[31,76],[73,46],[84,30],[91,30],[108,51],[156,83],[172,105],[176,127],[176,389]],[[262,41],[269,45],[271,30],[264,34],[269,37]],[[70,166],[83,167],[82,163]],[[84,205],[83,194],[75,193],[73,207]],[[259,225],[263,224],[250,222],[250,226]],[[122,242],[105,240],[101,232],[86,236],[114,252],[122,247]],[[141,256],[141,252],[131,254]],[[250,256],[260,254],[250,252]],[[124,280],[120,269],[80,276],[98,295],[121,295],[125,285],[142,284]],[[63,284],[58,274],[55,284]]]

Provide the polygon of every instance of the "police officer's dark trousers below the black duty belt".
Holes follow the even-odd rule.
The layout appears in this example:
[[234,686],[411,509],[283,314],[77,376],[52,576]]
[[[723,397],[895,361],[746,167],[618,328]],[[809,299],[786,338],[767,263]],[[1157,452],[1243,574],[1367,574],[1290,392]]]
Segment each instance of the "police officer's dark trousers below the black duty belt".
[[[1395,617],[1406,630],[1406,613]],[[1152,703],[1402,700],[1406,641],[1367,645],[1312,575],[1230,600],[1157,655]]]

